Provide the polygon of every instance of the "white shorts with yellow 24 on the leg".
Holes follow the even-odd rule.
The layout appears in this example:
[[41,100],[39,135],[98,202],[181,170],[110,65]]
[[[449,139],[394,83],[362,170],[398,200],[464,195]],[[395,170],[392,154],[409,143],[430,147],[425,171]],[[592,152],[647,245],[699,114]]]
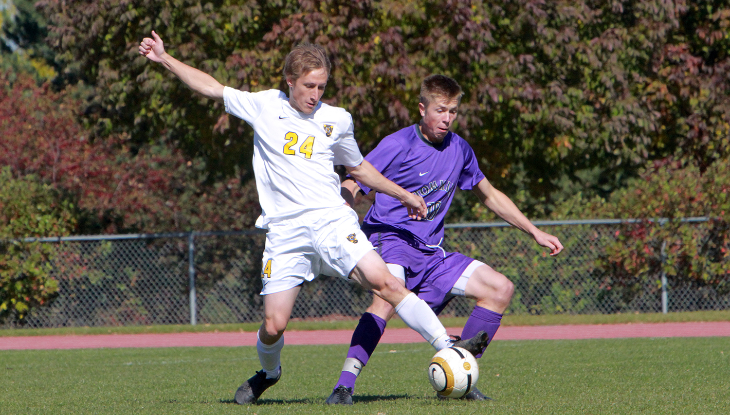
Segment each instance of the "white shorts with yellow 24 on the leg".
[[261,266],[261,295],[281,292],[325,274],[348,279],[373,249],[348,206],[316,209],[269,222]]

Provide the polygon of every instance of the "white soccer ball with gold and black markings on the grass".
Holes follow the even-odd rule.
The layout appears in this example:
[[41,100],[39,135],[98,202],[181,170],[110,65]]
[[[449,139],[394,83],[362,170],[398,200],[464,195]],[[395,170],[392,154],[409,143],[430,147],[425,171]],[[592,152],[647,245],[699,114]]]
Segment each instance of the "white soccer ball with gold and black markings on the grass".
[[466,349],[448,347],[439,350],[431,359],[429,381],[443,397],[462,397],[475,387],[477,380],[477,360]]

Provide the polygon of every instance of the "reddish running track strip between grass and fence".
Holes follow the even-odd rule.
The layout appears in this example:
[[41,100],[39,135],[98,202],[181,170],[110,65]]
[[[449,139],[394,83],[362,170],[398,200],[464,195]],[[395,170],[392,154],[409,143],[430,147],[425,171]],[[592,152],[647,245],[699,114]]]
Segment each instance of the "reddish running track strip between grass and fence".
[[[448,333],[461,333],[452,327]],[[288,331],[286,344],[349,344],[352,330]],[[1,335],[1,332],[0,332]],[[637,337],[730,337],[730,322],[639,323],[623,325],[504,326],[495,340],[558,340]],[[385,330],[380,343],[423,341],[415,331]],[[101,347],[255,346],[256,333],[104,334],[84,336],[0,336],[0,350],[93,349]]]

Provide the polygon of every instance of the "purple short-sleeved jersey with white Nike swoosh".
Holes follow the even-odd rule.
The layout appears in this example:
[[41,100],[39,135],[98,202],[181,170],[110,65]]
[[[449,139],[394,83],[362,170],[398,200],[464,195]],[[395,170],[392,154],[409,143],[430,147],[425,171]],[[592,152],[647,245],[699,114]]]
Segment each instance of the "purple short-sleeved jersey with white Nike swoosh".
[[[378,230],[405,230],[426,244],[437,245],[444,236],[444,217],[454,190],[471,190],[484,179],[474,150],[456,133],[434,145],[420,133],[418,124],[386,136],[365,156],[383,176],[405,190],[423,197],[428,206],[426,219],[412,220],[408,210],[395,198],[377,193],[365,215],[366,234]],[[358,182],[364,193],[370,188]]]

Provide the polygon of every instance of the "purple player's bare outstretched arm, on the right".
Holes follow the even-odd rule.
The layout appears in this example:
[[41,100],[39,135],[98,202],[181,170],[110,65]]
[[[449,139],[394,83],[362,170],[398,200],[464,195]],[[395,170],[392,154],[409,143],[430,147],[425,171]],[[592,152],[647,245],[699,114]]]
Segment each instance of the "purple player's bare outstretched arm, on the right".
[[472,191],[497,216],[532,236],[540,246],[550,249],[551,256],[558,255],[563,250],[563,244],[557,236],[539,230],[507,195],[497,190],[487,179],[482,179]]

